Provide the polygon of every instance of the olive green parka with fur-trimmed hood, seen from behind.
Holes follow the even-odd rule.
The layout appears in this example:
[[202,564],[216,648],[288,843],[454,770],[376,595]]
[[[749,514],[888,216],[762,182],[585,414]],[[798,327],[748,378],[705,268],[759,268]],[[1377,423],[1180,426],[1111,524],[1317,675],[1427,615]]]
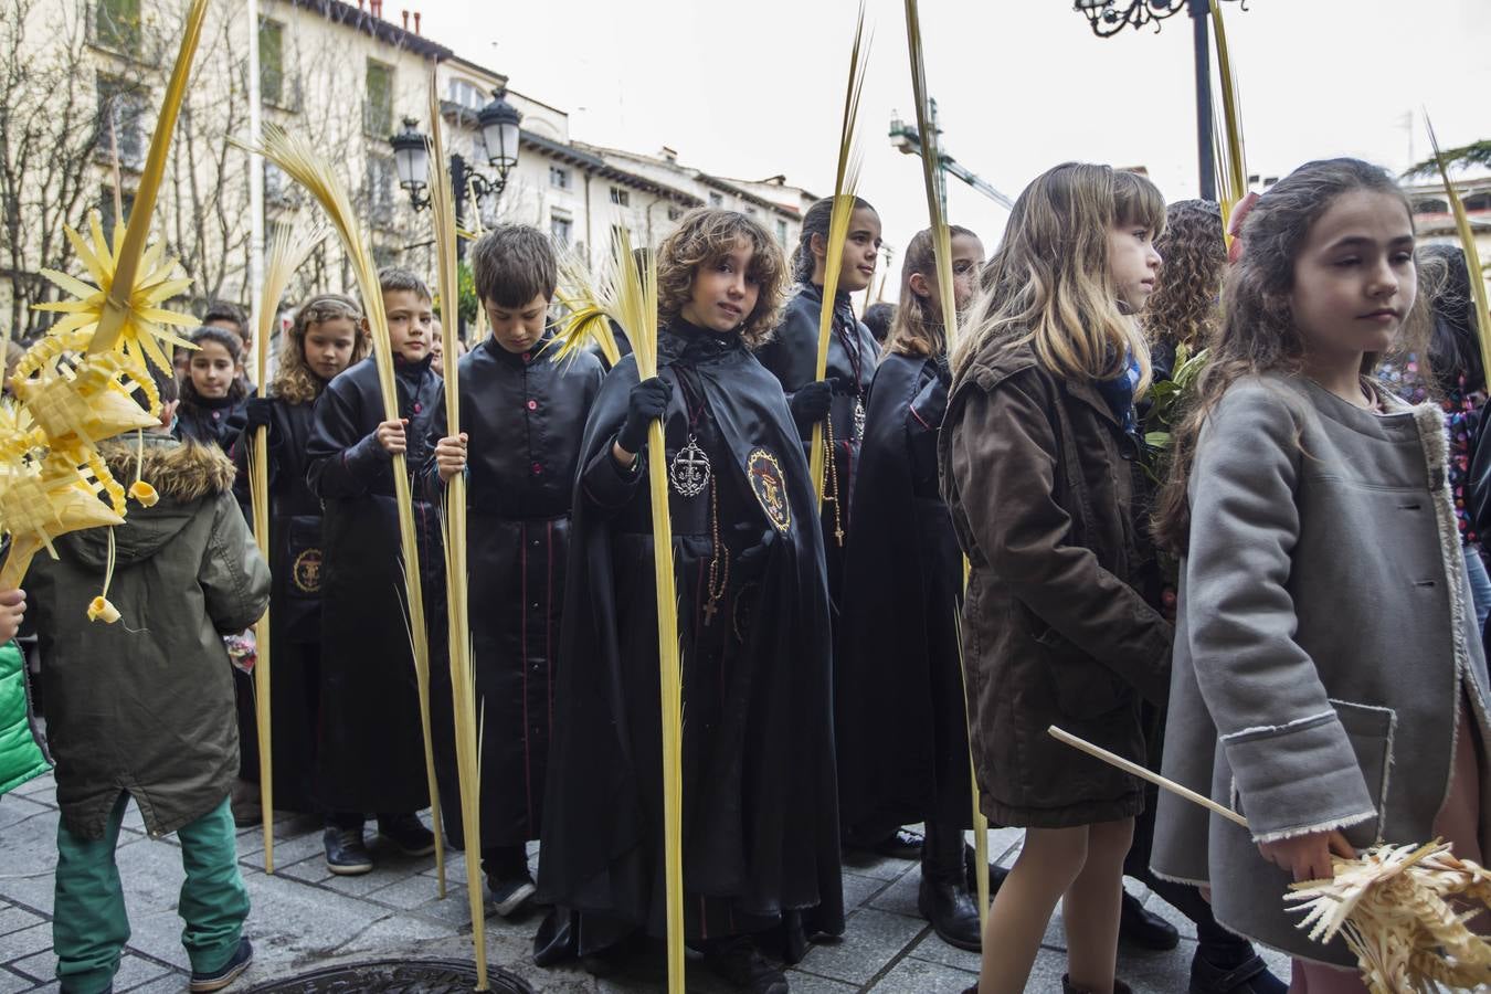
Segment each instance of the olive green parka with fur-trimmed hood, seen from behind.
[[[233,677],[222,636],[264,614],[270,571],[233,499],[216,449],[146,435],[143,478],[160,493],[113,529],[113,624],[88,621],[103,586],[109,529],[57,539],[27,575],[46,684],[57,800],[73,835],[100,839],[119,791],[152,836],[222,803],[239,772]],[[134,443],[106,446],[119,480]]]

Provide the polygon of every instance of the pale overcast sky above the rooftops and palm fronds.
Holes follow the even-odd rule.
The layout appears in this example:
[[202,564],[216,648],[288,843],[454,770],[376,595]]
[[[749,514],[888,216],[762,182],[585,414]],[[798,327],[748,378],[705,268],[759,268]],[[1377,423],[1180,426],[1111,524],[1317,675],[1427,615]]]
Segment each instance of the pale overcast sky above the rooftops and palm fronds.
[[[832,192],[856,0],[420,3],[428,37],[568,110],[574,139]],[[1491,137],[1491,0],[1242,6],[1223,3],[1251,173],[1330,155],[1402,170],[1428,151],[1421,109],[1445,148]],[[926,201],[920,164],[887,139],[893,113],[914,118],[902,4],[869,0],[868,21],[859,192],[904,246]],[[1009,197],[1066,159],[1145,165],[1169,200],[1197,194],[1187,15],[1099,39],[1071,0],[923,0],[921,34],[945,149]],[[990,249],[1006,218],[953,179],[948,215]]]

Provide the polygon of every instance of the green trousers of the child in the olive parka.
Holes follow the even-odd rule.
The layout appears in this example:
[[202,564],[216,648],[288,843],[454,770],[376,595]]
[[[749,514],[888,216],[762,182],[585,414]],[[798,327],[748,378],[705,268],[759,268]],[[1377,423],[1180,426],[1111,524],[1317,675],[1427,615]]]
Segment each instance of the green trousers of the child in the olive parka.
[[[52,951],[57,979],[69,994],[98,994],[113,984],[130,918],[113,851],[128,794],[119,794],[101,839],[81,839],[57,826],[57,896],[52,909]],[[182,945],[194,972],[219,970],[239,948],[249,891],[239,875],[239,852],[228,799],[176,832],[182,843],[182,884],[176,906],[186,927]]]

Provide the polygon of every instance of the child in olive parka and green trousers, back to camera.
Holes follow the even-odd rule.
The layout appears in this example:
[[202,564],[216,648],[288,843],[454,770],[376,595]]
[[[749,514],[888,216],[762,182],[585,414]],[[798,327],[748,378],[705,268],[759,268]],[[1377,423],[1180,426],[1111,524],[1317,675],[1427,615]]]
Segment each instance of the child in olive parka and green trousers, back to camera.
[[[152,370],[154,373],[154,370]],[[231,985],[253,958],[243,937],[249,894],[239,875],[228,791],[239,769],[233,678],[222,635],[264,612],[268,566],[233,498],[221,450],[176,441],[176,382],[157,376],[161,426],[143,434],[142,478],[160,501],[124,525],[57,539],[27,574],[57,760],[52,945],[64,991],[112,990],[130,922],[115,846],[134,797],[152,838],[174,832],[186,881],[182,945],[192,991]],[[113,474],[136,472],[136,441],[100,447]],[[83,623],[113,568],[118,624]]]

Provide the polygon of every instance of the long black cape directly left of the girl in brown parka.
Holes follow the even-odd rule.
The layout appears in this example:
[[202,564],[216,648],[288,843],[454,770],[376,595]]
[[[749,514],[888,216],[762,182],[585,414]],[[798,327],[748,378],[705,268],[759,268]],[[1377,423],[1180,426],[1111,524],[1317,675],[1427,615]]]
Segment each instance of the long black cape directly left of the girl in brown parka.
[[938,493],[947,389],[930,359],[889,355],[869,393],[833,674],[847,838],[972,821],[957,612],[963,554]]

